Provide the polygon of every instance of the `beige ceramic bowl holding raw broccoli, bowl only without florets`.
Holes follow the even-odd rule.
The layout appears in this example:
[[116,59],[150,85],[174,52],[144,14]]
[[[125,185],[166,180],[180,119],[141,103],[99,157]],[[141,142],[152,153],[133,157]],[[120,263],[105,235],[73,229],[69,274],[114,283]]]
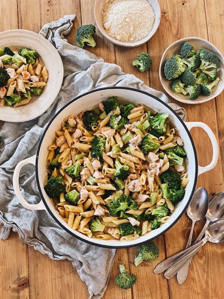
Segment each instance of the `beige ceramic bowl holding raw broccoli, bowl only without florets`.
[[[165,62],[173,55],[180,54],[180,49],[184,42],[189,42],[191,45],[194,46],[195,50],[198,50],[200,48],[208,49],[212,52],[214,52],[220,59],[219,68],[218,68],[218,77],[220,78],[219,83],[217,86],[214,86],[212,88],[212,93],[210,96],[205,96],[201,94],[196,100],[189,100],[188,96],[185,96],[181,93],[177,93],[173,91],[171,86],[171,81],[166,80],[163,72],[163,68],[165,65]],[[201,104],[204,102],[207,102],[209,100],[214,99],[217,97],[224,89],[224,57],[223,54],[214,46],[211,44],[211,42],[208,42],[205,39],[199,38],[199,37],[186,37],[183,39],[179,39],[178,41],[172,43],[163,53],[160,65],[159,65],[159,79],[162,83],[163,88],[165,91],[173,97],[175,100],[186,103],[186,104]]]

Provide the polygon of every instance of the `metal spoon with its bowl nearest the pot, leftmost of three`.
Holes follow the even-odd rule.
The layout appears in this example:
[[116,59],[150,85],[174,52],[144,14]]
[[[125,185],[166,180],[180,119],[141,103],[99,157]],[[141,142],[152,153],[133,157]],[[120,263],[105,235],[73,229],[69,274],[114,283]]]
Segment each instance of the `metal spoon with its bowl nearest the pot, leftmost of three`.
[[[209,197],[207,190],[202,187],[197,188],[187,208],[187,214],[188,217],[192,220],[192,226],[186,248],[188,248],[191,245],[195,222],[205,217],[205,214],[208,210],[208,202]],[[175,257],[176,259],[173,261],[173,263],[175,263],[178,260],[178,254],[175,254]],[[156,268],[154,269],[154,273],[162,273],[163,271],[168,269],[173,263],[170,263],[170,258],[162,261],[156,266]]]

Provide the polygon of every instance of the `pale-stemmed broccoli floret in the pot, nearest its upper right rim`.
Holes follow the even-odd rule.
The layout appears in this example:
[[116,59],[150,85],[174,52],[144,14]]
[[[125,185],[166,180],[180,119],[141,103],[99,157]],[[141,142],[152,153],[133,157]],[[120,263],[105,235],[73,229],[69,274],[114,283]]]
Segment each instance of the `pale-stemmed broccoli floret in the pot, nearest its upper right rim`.
[[166,126],[168,121],[166,120],[168,118],[167,113],[157,113],[154,117],[149,118],[151,131],[150,134],[156,136],[159,138],[160,136],[164,135],[166,132]]

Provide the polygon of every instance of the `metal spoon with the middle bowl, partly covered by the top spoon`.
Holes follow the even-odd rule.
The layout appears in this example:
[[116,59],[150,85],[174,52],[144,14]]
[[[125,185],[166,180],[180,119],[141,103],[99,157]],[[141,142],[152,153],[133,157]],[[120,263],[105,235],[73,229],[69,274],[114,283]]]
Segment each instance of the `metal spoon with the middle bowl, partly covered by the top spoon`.
[[[209,201],[208,211],[205,215],[206,222],[202,231],[198,235],[197,239],[194,241],[193,245],[200,241],[205,233],[206,228],[208,227],[209,223],[220,219],[224,216],[224,191],[221,191],[215,194]],[[179,284],[185,282],[188,276],[188,268],[191,264],[191,261],[194,257],[192,257],[188,263],[186,263],[178,272],[177,272],[177,280]]]

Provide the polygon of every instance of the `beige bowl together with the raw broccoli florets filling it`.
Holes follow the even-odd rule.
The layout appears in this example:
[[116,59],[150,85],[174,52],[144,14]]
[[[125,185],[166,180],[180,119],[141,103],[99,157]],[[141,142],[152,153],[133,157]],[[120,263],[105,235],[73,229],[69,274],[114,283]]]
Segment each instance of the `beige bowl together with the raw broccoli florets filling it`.
[[180,39],[163,53],[159,78],[165,91],[175,100],[204,103],[224,89],[224,57],[205,39]]

